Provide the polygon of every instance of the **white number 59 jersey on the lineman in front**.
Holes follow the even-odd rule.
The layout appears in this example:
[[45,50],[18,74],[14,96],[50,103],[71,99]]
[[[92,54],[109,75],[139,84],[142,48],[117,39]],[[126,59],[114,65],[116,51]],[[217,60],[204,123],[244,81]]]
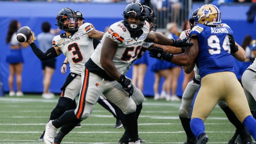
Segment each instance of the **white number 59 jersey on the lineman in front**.
[[113,58],[113,63],[120,74],[125,75],[130,69],[131,63],[137,59],[140,53],[141,46],[149,35],[150,27],[149,23],[145,21],[142,28],[142,34],[139,37],[132,38],[130,32],[126,29],[123,24],[123,20],[112,24],[109,30],[104,34],[101,43],[95,49],[92,54],[92,61],[101,69],[100,65],[100,54],[102,49],[102,44],[104,43],[106,37],[112,39],[117,43],[117,51]]

